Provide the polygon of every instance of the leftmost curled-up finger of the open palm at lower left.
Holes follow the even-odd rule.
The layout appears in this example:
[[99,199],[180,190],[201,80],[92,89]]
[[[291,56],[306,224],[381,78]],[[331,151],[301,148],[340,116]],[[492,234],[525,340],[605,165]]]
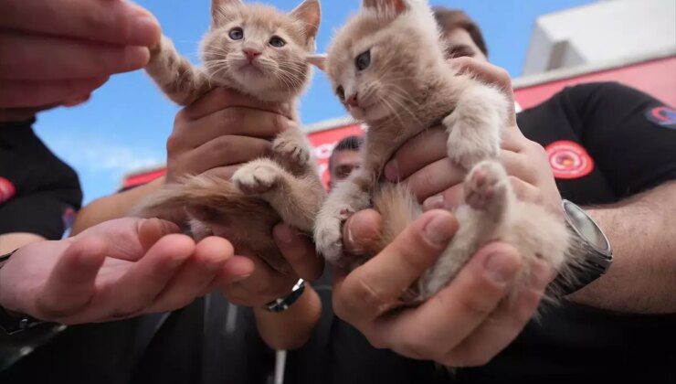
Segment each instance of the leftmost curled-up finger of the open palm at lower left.
[[108,243],[103,239],[75,240],[61,255],[38,294],[37,314],[45,320],[56,320],[87,305],[107,251]]

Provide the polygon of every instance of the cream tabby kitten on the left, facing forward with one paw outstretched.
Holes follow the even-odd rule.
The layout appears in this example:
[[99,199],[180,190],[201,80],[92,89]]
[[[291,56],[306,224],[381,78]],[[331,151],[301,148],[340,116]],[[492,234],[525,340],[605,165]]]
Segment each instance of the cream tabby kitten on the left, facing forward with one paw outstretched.
[[[182,105],[225,86],[259,101],[290,102],[295,114],[312,76],[319,1],[305,0],[289,14],[239,0],[212,0],[211,6],[211,27],[201,44],[204,68],[194,68],[163,37],[152,49],[148,74]],[[189,226],[197,239],[217,231],[236,251],[253,252],[286,272],[272,226],[283,220],[311,233],[324,195],[310,144],[295,128],[275,137],[269,156],[243,165],[230,181],[187,177],[164,187],[138,211]]]

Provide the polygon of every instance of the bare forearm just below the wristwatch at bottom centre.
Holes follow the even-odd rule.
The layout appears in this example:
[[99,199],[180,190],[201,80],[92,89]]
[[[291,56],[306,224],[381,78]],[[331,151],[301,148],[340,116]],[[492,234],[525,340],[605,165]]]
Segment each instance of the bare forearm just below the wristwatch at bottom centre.
[[272,349],[302,347],[322,314],[322,302],[310,284],[305,286],[298,301],[281,313],[254,308],[259,335]]

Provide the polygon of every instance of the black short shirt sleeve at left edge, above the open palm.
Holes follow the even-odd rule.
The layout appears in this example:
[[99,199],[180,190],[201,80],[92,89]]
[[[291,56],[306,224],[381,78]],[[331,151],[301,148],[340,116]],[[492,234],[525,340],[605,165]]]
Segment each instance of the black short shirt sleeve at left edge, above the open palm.
[[0,205],[0,235],[27,232],[59,240],[75,213],[72,201],[77,197],[79,189],[57,189],[13,198]]

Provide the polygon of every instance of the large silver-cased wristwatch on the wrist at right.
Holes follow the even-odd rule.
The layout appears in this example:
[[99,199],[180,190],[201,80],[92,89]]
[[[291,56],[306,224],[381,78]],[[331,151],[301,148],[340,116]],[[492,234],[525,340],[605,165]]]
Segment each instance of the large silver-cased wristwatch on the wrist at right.
[[555,294],[565,296],[582,289],[606,273],[613,261],[613,250],[606,234],[584,209],[563,199],[566,227],[573,235],[571,250],[579,261],[570,265],[572,276],[559,275],[552,283]]

